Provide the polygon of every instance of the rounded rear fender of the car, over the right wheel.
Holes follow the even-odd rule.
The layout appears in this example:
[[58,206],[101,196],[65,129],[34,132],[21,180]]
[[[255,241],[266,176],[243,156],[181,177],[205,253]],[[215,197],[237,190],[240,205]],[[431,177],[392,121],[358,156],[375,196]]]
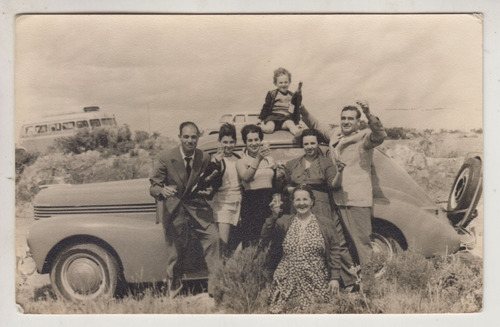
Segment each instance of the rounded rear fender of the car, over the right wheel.
[[[375,203],[373,218],[390,222],[405,237],[408,248],[430,257],[437,253],[452,253],[459,249],[460,239],[446,218],[426,208],[408,202],[391,200]],[[417,232],[418,231],[418,232]]]

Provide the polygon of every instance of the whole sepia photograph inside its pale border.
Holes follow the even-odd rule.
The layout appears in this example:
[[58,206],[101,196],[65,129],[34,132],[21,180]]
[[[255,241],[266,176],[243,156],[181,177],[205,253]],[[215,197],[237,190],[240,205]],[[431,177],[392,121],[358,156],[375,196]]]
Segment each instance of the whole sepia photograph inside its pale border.
[[483,310],[483,15],[15,19],[22,314]]

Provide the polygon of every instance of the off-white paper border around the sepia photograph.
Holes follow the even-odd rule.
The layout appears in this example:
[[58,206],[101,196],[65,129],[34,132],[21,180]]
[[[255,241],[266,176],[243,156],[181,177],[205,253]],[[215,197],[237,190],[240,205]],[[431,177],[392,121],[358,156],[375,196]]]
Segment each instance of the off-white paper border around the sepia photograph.
[[[484,300],[483,312],[475,314],[428,314],[428,315],[25,315],[15,309],[14,289],[14,21],[19,14],[53,14],[53,13],[102,13],[102,14],[146,14],[146,13],[481,13],[483,14],[484,31],[484,66],[483,66],[483,130],[484,130]],[[400,0],[357,2],[339,1],[116,1],[104,2],[91,0],[70,2],[64,0],[15,1],[3,0],[0,4],[0,113],[6,122],[0,130],[2,140],[1,170],[1,206],[2,240],[0,251],[0,276],[2,281],[2,299],[0,300],[0,320],[6,326],[43,325],[43,326],[135,326],[140,324],[182,324],[182,325],[271,325],[283,323],[292,325],[328,323],[385,326],[488,326],[498,323],[498,294],[500,283],[496,273],[496,249],[500,248],[500,219],[495,215],[500,212],[497,191],[500,192],[499,173],[500,160],[498,154],[498,127],[500,126],[500,5],[495,0],[478,1],[431,1]]]

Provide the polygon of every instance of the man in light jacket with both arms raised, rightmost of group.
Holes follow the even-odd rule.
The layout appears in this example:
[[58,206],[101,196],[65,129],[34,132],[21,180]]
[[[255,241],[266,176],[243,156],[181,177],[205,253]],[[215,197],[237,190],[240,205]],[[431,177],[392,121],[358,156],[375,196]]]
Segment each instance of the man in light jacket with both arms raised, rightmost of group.
[[355,261],[364,264],[371,259],[373,206],[372,161],[373,150],[387,137],[380,120],[371,114],[367,103],[357,102],[368,120],[369,128],[360,128],[361,111],[357,106],[342,109],[340,129],[320,123],[304,107],[302,119],[309,128],[319,130],[329,141],[329,152],[334,163],[344,167],[342,185],[333,191],[343,227],[355,250]]

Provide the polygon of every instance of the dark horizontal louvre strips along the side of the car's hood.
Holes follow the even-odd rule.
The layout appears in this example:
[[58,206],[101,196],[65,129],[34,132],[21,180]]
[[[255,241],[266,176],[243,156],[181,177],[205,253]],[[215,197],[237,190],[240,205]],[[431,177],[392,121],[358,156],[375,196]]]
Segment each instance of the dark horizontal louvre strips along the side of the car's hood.
[[116,214],[116,213],[148,213],[156,212],[154,203],[144,204],[117,204],[96,206],[39,206],[34,207],[35,219],[49,218],[56,215],[81,214]]

